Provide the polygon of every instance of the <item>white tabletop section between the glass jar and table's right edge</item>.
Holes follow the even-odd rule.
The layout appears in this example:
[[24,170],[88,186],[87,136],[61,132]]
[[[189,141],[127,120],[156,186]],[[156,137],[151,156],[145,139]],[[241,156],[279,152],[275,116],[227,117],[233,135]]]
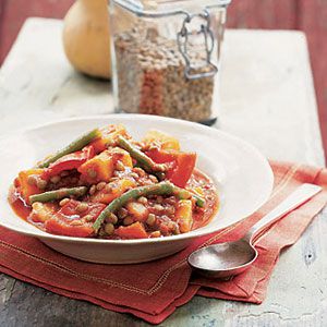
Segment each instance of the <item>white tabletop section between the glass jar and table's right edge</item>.
[[221,129],[269,158],[324,166],[304,34],[230,31],[225,46]]

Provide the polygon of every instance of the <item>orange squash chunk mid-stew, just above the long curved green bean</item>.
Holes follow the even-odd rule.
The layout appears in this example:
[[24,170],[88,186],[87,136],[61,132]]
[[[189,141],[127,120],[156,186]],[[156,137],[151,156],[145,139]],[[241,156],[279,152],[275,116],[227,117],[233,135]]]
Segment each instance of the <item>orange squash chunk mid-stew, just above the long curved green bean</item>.
[[130,187],[135,187],[136,183],[129,179],[117,180],[109,183],[110,189],[102,189],[90,196],[90,201],[94,203],[109,204],[116,197],[121,196]]

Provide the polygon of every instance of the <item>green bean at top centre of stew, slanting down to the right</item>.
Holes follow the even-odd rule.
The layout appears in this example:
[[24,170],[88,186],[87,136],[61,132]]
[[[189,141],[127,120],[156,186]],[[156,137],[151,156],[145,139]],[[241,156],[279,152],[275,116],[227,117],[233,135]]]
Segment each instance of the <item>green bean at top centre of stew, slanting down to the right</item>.
[[150,157],[135,147],[123,136],[118,136],[118,145],[130,153],[131,157],[134,158],[137,161],[137,165],[146,172],[156,173],[167,170],[167,166],[165,164],[156,164]]

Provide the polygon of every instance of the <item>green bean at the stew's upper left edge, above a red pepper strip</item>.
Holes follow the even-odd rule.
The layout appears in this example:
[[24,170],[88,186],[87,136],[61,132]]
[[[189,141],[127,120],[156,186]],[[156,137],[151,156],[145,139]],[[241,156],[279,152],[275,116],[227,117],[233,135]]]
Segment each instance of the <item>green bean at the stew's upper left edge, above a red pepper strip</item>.
[[86,133],[86,134],[80,136],[78,138],[76,138],[75,141],[73,141],[72,143],[70,143],[64,148],[57,152],[55,155],[52,155],[49,158],[46,158],[44,161],[39,162],[37,167],[38,168],[47,168],[47,167],[49,167],[50,164],[55,162],[56,160],[60,159],[61,157],[69,155],[71,153],[81,150],[84,146],[89,144],[93,140],[100,137],[100,135],[101,134],[98,129],[95,129],[95,130]]

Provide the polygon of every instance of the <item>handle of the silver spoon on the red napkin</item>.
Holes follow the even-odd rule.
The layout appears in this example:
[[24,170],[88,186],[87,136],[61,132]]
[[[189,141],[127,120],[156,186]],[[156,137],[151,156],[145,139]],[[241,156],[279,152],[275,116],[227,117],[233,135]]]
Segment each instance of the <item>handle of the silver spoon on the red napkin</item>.
[[284,215],[289,214],[304,202],[308,201],[315,194],[322,191],[322,187],[314,184],[302,184],[284,201],[282,201],[275,209],[255,223],[251,230],[245,234],[244,239],[251,244],[255,239],[265,232],[274,222],[279,220]]

